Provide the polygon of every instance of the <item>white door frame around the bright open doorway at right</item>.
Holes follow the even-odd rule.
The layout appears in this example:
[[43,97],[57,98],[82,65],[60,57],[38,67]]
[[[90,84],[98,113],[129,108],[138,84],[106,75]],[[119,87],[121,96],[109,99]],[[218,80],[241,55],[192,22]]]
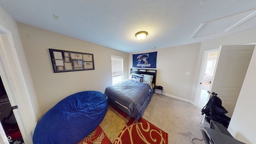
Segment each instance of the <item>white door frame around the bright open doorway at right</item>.
[[[204,50],[202,64],[201,64],[201,68],[200,68],[200,74],[199,74],[199,78],[198,78],[198,85],[197,85],[197,90],[196,90],[196,97],[195,97],[196,106],[198,106],[200,96],[201,96],[202,83],[204,81],[204,73],[206,70],[208,54],[209,54],[209,52],[216,52],[216,51],[219,51],[219,48],[212,49],[212,50]],[[209,100],[209,97],[207,98],[207,100]]]

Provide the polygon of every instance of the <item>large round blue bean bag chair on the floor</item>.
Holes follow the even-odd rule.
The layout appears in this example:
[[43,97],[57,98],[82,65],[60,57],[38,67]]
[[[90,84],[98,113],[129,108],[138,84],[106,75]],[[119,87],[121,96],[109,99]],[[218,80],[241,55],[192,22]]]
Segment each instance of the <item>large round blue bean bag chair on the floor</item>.
[[36,125],[34,144],[76,144],[102,122],[108,110],[101,92],[72,94],[52,107]]

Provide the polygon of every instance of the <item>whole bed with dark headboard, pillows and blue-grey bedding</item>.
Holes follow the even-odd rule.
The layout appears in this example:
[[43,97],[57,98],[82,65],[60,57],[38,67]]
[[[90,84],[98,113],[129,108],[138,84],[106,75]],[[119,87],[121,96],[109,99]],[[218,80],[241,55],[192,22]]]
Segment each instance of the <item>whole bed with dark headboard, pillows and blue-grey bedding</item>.
[[138,120],[154,94],[155,83],[156,70],[131,68],[128,79],[108,86],[104,94],[108,102]]

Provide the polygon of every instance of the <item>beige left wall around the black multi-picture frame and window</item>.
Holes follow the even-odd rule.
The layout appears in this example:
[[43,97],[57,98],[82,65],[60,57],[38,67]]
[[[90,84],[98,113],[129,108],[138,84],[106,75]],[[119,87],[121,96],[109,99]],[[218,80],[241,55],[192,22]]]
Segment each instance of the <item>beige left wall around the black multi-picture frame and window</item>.
[[[124,69],[128,69],[128,53],[25,24],[18,23],[18,29],[42,114],[70,94],[85,90],[104,93],[111,84],[110,55],[123,56]],[[93,54],[95,70],[54,73],[48,48]]]

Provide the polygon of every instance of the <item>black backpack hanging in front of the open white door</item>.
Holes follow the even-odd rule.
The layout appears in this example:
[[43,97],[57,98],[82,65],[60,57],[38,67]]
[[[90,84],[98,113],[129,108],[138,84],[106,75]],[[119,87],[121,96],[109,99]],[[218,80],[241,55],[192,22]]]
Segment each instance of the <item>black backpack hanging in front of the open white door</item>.
[[217,96],[218,94],[212,93],[212,97],[207,104],[202,108],[202,115],[205,114],[205,120],[210,124],[210,120],[222,123],[226,128],[230,122],[230,118],[225,114],[228,111],[222,106],[222,101]]

